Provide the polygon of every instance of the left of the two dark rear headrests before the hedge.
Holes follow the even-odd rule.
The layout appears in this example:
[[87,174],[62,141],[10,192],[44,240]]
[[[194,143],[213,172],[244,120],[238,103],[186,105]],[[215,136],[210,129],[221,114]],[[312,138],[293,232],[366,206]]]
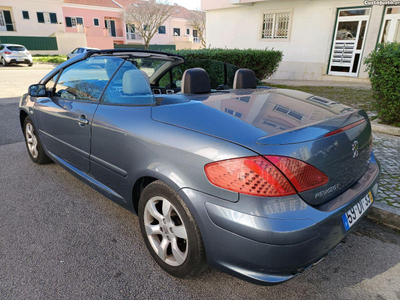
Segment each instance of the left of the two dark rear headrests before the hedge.
[[202,68],[188,69],[182,76],[183,94],[205,94],[211,92],[210,78]]

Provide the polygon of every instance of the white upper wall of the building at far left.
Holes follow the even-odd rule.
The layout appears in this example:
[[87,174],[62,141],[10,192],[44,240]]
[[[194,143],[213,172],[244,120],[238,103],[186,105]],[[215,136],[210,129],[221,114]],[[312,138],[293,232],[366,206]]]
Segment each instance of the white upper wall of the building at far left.
[[[63,30],[57,24],[38,23],[37,12],[57,14],[57,22],[63,22],[62,0],[1,0],[0,10],[10,10],[16,31],[2,31],[9,36],[49,36]],[[22,17],[22,11],[29,12],[29,20]]]

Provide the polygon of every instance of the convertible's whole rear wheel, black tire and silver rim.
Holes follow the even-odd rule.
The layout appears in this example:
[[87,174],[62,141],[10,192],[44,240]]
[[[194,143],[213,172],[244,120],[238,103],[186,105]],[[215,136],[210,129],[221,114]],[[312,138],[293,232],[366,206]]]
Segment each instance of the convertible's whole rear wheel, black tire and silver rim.
[[146,186],[138,214],[147,249],[167,273],[193,278],[207,269],[200,230],[186,204],[168,185],[157,180]]

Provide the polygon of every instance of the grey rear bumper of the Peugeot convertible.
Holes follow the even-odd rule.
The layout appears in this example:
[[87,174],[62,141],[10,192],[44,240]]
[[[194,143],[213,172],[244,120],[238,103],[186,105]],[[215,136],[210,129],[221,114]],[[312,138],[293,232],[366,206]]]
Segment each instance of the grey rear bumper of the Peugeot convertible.
[[253,283],[272,285],[320,261],[356,227],[346,231],[342,215],[369,191],[376,197],[379,174],[372,155],[364,176],[337,197],[340,201],[332,199],[333,204],[324,207],[310,206],[297,195],[247,196],[231,203],[188,188],[179,193],[194,212],[210,265]]

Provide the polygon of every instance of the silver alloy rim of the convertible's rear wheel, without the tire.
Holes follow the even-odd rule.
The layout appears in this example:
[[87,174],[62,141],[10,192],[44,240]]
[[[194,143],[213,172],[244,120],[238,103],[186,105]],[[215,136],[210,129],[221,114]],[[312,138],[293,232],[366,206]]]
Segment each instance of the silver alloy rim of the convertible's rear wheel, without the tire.
[[144,209],[147,238],[158,257],[170,266],[182,265],[188,255],[185,224],[174,205],[163,197],[153,197]]

